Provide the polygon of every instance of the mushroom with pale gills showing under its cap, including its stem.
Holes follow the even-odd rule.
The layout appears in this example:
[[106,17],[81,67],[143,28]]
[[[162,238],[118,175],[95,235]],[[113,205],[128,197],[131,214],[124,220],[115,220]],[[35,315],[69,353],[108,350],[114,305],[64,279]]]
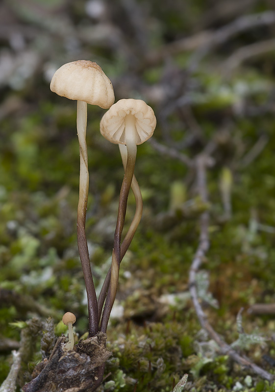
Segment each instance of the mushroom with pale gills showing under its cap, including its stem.
[[[122,253],[120,243],[125,221],[127,198],[134,174],[137,145],[144,143],[152,136],[155,126],[156,118],[152,108],[143,100],[132,98],[121,99],[112,105],[111,108],[104,114],[100,122],[100,132],[102,136],[111,143],[126,146],[126,152],[125,149],[123,149],[124,147],[121,148],[124,163],[126,161],[125,176],[119,200],[110,284],[100,325],[100,330],[104,333],[107,330],[108,320],[118,287],[119,265]],[[135,216],[135,218],[137,217]],[[136,222],[137,221],[139,222],[139,219],[136,219]],[[136,224],[136,222],[134,224]],[[133,233],[131,234],[133,235]],[[131,234],[127,239],[127,241],[129,241],[128,245],[132,239]]]

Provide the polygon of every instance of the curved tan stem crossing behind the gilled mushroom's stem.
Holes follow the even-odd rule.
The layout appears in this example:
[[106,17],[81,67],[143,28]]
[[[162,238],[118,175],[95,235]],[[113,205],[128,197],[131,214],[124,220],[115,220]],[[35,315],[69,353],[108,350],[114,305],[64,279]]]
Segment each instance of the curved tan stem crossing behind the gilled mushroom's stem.
[[[123,144],[119,144],[119,149],[120,149],[120,153],[121,153],[121,157],[122,157],[122,162],[123,162],[123,166],[124,166],[124,170],[126,170],[126,163],[127,163],[127,147]],[[140,192],[140,187],[138,185],[138,182],[136,180],[135,175],[133,175],[133,179],[132,179],[132,183],[131,183],[131,189],[133,191],[133,194],[135,196],[135,200],[136,200],[136,211],[135,211],[135,215],[134,218],[130,224],[130,227],[125,235],[125,238],[123,240],[123,243],[121,245],[121,250],[120,250],[120,263],[122,261],[122,259],[125,256],[125,253],[128,249],[128,247],[130,246],[132,239],[134,237],[134,234],[136,232],[136,229],[139,225],[139,222],[141,220],[142,217],[142,210],[143,210],[143,202],[142,202],[142,195]],[[108,270],[108,273],[106,275],[106,278],[104,280],[104,283],[102,285],[101,291],[100,291],[100,295],[99,295],[99,300],[98,300],[98,310],[99,310],[99,320],[100,320],[100,316],[101,316],[101,312],[102,312],[102,308],[103,308],[103,304],[108,292],[108,288],[109,288],[109,284],[110,284],[110,279],[111,279],[111,267]]]

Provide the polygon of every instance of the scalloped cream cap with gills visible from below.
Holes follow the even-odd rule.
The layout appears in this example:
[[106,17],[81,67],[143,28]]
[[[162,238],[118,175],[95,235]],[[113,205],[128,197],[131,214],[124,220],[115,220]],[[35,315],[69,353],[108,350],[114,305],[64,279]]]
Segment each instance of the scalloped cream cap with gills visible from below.
[[156,118],[153,109],[141,99],[120,99],[104,114],[100,132],[111,143],[125,144],[125,117],[132,115],[135,120],[137,145],[148,140],[155,129]]

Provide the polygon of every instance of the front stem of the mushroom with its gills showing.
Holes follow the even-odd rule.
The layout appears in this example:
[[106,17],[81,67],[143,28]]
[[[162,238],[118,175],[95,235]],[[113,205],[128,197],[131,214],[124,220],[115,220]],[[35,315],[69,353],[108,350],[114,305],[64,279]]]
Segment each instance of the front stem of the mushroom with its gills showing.
[[137,146],[134,137],[135,129],[135,118],[131,115],[127,115],[125,118],[125,143],[127,147],[127,163],[119,198],[118,218],[114,235],[114,248],[112,253],[111,278],[100,325],[100,330],[104,333],[106,333],[107,330],[110,313],[115,301],[118,288],[119,266],[121,260],[120,243],[122,230],[125,222],[127,198],[134,175],[136,161]]

